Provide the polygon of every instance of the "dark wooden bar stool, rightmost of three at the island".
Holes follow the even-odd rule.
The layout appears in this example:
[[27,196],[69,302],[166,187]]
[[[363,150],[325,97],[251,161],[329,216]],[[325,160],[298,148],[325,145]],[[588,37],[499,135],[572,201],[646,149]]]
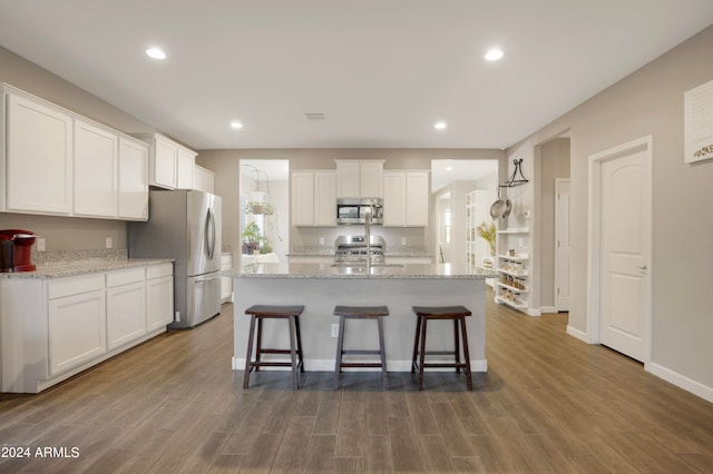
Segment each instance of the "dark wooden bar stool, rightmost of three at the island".
[[[423,368],[424,367],[455,367],[456,373],[460,369],[466,372],[466,381],[468,389],[472,391],[472,376],[470,373],[470,354],[468,352],[468,333],[466,332],[466,316],[472,315],[468,308],[463,306],[413,306],[416,313],[416,338],[413,342],[413,361],[411,363],[411,374],[417,371],[419,373],[419,391],[423,389]],[[426,350],[426,326],[429,319],[452,319],[455,348],[453,350]],[[458,333],[458,323],[460,322],[460,336],[462,336],[465,362],[460,362],[460,337]],[[426,355],[452,355],[452,363],[426,363]]]

